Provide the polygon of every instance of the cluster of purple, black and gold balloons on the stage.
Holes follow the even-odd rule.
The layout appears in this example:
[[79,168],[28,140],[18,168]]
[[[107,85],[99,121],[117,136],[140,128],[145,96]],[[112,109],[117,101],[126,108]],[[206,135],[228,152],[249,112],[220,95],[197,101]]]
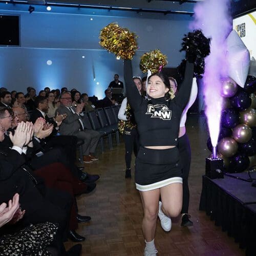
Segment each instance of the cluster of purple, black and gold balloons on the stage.
[[[248,75],[244,88],[231,78],[222,80],[224,109],[217,144],[218,156],[229,173],[256,165],[256,78]],[[210,138],[207,147],[212,151]]]

